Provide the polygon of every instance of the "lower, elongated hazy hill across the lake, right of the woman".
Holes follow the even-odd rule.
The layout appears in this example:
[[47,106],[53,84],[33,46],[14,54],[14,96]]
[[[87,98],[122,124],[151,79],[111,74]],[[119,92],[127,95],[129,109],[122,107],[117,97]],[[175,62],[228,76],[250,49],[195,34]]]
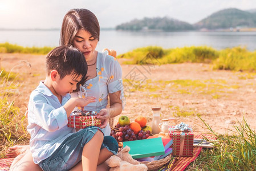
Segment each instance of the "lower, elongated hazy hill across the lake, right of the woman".
[[186,31],[194,30],[193,25],[189,23],[178,21],[176,19],[164,18],[143,18],[134,19],[131,22],[123,23],[116,26],[116,30],[161,30],[161,31]]

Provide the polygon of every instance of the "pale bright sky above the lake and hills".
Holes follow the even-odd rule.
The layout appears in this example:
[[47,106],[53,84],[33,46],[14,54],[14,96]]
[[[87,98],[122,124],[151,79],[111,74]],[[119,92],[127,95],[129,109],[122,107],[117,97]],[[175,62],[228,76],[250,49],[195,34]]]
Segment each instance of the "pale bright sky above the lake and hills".
[[73,8],[91,10],[108,28],[144,17],[193,24],[222,9],[256,9],[256,0],[0,0],[0,28],[60,28]]

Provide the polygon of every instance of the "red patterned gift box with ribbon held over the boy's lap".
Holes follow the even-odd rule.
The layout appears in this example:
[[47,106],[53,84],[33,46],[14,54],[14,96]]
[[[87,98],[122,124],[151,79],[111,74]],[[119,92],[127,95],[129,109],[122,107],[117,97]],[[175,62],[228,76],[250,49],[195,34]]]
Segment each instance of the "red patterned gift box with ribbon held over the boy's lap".
[[100,127],[101,121],[97,119],[94,111],[75,111],[68,117],[68,127],[86,128],[90,126]]

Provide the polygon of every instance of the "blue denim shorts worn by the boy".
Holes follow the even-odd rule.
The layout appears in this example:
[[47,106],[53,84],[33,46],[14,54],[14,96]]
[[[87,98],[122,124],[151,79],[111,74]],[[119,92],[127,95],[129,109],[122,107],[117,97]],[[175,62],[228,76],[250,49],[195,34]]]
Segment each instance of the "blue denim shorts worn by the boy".
[[[47,171],[70,170],[82,160],[84,145],[92,139],[97,131],[101,131],[101,129],[98,127],[87,127],[72,134],[60,144],[59,148],[50,157],[39,162],[38,165]],[[118,143],[112,136],[104,136],[100,149],[103,148],[107,148],[110,152],[116,154]]]

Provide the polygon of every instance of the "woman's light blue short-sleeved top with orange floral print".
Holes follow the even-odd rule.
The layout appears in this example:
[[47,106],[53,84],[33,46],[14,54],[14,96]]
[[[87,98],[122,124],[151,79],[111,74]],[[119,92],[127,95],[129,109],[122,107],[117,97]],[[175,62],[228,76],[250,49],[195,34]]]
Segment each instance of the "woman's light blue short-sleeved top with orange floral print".
[[[71,97],[95,96],[96,101],[84,107],[86,111],[100,112],[108,104],[108,94],[121,91],[120,99],[124,109],[124,90],[122,80],[122,69],[116,58],[102,52],[97,52],[96,62],[97,76],[87,80],[82,86],[82,92],[71,93]],[[78,110],[75,108],[74,110]],[[103,129],[104,135],[110,135],[109,124]]]

